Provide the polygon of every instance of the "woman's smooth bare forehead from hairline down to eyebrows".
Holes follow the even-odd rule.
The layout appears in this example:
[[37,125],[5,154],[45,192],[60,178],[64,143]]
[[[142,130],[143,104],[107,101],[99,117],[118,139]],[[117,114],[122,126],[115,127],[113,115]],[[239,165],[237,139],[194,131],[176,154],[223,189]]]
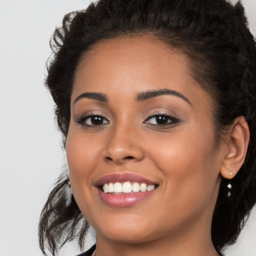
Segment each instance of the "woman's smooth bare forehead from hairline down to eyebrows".
[[200,90],[208,97],[190,75],[187,59],[181,51],[152,36],[102,40],[83,54],[76,69],[72,98],[84,91],[119,97],[162,88],[186,95]]

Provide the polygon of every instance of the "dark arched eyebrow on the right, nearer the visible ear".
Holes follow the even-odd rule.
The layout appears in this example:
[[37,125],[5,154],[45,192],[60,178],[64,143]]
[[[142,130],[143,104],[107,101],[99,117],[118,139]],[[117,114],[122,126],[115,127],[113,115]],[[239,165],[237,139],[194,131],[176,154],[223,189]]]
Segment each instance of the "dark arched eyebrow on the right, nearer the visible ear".
[[143,101],[146,99],[150,99],[153,97],[161,96],[161,95],[173,95],[182,98],[185,100],[189,105],[192,105],[192,103],[180,92],[176,90],[171,89],[158,89],[158,90],[146,90],[139,92],[137,96],[135,97],[136,101]]

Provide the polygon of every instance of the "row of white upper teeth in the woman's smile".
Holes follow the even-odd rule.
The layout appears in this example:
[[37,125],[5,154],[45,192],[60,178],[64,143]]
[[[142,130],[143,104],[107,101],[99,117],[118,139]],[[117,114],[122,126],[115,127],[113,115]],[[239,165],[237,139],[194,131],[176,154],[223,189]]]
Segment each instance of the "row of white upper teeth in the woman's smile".
[[150,191],[154,189],[154,185],[147,185],[146,183],[139,184],[138,182],[131,184],[129,181],[126,181],[123,184],[120,182],[104,183],[102,188],[104,193],[130,193]]

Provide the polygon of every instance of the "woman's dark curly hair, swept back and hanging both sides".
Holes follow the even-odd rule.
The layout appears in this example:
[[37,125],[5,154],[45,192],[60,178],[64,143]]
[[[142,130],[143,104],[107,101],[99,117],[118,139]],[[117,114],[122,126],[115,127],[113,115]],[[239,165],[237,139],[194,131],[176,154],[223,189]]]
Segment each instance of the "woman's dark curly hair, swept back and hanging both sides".
[[[256,200],[256,51],[240,2],[225,0],[99,0],[64,16],[50,46],[45,85],[55,102],[55,116],[63,135],[70,120],[70,96],[82,54],[96,42],[113,37],[149,34],[187,56],[194,79],[215,102],[216,139],[243,115],[250,130],[245,162],[232,179],[222,179],[213,212],[211,237],[219,252],[233,243]],[[63,171],[43,207],[39,245],[53,255],[74,238],[83,248],[89,224],[74,197],[66,206]]]

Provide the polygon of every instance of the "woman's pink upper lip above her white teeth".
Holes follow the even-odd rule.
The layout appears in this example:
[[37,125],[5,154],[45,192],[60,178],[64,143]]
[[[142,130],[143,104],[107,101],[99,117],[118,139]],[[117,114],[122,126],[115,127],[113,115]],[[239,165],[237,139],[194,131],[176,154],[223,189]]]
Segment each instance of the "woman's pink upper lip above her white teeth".
[[95,186],[100,186],[104,183],[109,183],[109,182],[125,182],[125,181],[141,182],[141,183],[146,183],[147,185],[157,184],[156,182],[149,180],[141,175],[128,172],[128,173],[111,173],[111,174],[104,175],[95,181]]

